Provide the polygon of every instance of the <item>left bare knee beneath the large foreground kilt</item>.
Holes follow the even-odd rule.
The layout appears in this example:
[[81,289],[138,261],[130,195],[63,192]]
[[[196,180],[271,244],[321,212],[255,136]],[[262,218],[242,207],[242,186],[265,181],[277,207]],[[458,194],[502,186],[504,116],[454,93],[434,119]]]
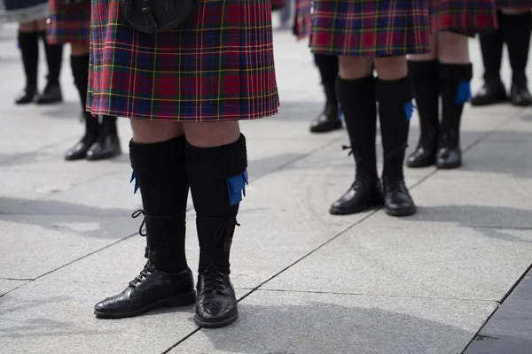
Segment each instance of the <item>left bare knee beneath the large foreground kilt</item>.
[[141,119],[131,119],[130,121],[134,142],[166,142],[184,135],[183,125],[179,122]]

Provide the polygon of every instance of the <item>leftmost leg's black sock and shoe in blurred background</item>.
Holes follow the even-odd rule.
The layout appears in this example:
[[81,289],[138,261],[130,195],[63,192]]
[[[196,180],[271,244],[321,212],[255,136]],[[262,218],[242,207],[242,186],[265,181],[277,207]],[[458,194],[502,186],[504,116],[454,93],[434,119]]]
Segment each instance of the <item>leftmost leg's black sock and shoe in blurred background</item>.
[[39,65],[39,34],[19,32],[20,53],[26,73],[26,88],[15,97],[15,104],[29,104],[37,94],[37,70]]

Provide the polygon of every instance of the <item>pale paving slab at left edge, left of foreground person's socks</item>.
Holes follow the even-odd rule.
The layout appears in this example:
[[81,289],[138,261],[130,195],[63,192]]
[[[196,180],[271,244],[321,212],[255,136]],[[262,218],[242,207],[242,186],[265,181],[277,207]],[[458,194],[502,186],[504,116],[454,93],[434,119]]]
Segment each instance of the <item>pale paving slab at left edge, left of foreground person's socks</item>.
[[35,279],[135,231],[126,218],[2,215],[0,278]]

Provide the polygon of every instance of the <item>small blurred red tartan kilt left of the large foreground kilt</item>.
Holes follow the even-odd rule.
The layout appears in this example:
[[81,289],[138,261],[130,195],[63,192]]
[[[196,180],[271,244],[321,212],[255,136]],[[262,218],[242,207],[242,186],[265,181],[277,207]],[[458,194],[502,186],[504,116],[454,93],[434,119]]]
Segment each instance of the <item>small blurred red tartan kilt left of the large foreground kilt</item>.
[[88,45],[90,42],[90,3],[63,5],[59,0],[49,0],[49,5],[48,41]]

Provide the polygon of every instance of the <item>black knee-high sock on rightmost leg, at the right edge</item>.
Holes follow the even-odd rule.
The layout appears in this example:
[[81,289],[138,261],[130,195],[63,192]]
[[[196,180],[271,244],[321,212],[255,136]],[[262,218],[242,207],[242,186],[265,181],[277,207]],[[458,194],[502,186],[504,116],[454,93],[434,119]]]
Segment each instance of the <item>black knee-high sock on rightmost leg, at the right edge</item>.
[[508,46],[508,57],[510,58],[514,81],[527,80],[525,71],[528,63],[531,31],[531,12],[519,15],[504,15],[503,35]]

